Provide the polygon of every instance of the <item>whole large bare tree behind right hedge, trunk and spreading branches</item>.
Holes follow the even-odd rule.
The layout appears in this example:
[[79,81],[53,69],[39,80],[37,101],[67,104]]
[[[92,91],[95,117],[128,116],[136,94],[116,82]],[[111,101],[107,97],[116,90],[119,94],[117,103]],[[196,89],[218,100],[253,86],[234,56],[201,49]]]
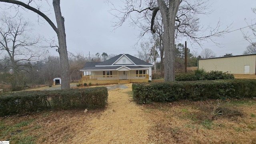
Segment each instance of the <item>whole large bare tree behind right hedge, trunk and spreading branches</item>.
[[[207,1],[203,0],[126,0],[126,6],[122,10],[118,10],[122,16],[117,16],[119,22],[116,26],[122,26],[123,22],[128,18],[132,19],[132,23],[138,25],[140,21],[148,20],[145,18],[150,14],[150,30],[155,33],[154,20],[158,11],[162,18],[163,36],[162,36],[162,48],[164,49],[164,80],[174,81],[174,59],[175,59],[175,44],[174,40],[179,33],[181,36],[188,36],[190,40],[194,40],[200,44],[202,40],[210,39],[213,36],[221,36],[218,22],[215,28],[210,29],[210,33],[207,35],[200,35],[204,32],[204,28],[199,26],[199,19],[196,18],[196,14],[207,14],[204,12],[208,8]],[[151,12],[152,13],[151,13]],[[136,17],[132,12],[138,12]],[[197,34],[199,33],[199,35]]]

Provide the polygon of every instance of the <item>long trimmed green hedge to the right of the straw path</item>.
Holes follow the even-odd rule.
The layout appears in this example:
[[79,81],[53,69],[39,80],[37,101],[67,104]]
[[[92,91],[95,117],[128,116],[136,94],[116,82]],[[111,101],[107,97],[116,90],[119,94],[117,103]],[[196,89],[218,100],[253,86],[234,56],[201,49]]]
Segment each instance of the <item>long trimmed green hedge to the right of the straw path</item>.
[[256,97],[256,80],[212,80],[132,84],[138,104],[176,100]]

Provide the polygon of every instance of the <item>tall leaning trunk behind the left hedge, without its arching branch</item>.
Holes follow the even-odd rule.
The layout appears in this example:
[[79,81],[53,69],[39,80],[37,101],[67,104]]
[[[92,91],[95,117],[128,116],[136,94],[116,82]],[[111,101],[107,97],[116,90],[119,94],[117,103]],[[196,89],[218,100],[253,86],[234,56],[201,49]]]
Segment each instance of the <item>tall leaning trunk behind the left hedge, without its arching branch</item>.
[[69,63],[68,63],[68,51],[66,44],[66,34],[64,26],[64,17],[61,15],[60,11],[60,0],[52,0],[57,27],[58,27],[58,42],[59,48],[58,52],[60,54],[60,67],[61,67],[61,89],[70,88],[70,72],[69,72]]

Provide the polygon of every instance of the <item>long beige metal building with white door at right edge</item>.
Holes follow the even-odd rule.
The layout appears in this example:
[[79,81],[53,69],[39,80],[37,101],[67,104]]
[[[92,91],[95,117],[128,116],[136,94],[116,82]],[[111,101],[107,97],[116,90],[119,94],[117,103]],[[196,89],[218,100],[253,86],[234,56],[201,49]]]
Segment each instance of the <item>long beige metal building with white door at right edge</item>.
[[199,59],[198,69],[204,69],[206,72],[218,70],[231,74],[255,75],[256,54]]

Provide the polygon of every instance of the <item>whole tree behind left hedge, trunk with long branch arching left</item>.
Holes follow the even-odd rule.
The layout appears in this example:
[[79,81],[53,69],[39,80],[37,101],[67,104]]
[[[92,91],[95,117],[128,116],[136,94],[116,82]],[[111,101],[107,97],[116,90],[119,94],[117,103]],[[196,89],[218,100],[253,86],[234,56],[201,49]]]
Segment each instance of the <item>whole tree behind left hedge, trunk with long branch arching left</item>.
[[[15,8],[19,8],[22,6],[28,10],[31,10],[44,18],[53,30],[56,32],[58,36],[58,53],[60,55],[60,66],[61,66],[61,77],[62,77],[62,89],[70,88],[70,71],[69,71],[69,63],[68,63],[68,51],[66,45],[66,34],[65,34],[65,26],[64,26],[64,17],[60,11],[60,0],[52,0],[55,18],[57,22],[57,27],[54,25],[52,20],[48,18],[43,12],[40,11],[40,4],[37,4],[35,0],[27,0],[26,2],[18,1],[18,0],[0,0],[0,2],[6,2],[13,4]],[[18,7],[16,7],[18,6]]]

